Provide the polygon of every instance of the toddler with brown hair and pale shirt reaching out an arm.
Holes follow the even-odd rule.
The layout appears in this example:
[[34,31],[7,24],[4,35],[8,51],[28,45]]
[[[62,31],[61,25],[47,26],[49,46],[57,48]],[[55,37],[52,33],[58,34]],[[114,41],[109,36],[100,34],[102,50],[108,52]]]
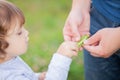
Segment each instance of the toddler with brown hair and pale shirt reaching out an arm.
[[[20,9],[0,0],[0,80],[41,80],[19,57],[28,45],[28,31]],[[49,64],[44,80],[67,80],[71,57],[76,56],[75,42],[63,42]]]

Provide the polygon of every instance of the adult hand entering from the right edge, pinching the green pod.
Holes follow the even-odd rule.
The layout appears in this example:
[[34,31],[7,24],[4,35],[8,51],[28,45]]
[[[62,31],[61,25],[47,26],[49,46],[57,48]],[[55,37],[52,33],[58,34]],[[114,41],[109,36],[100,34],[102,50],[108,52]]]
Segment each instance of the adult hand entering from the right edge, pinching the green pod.
[[104,28],[84,42],[84,48],[95,57],[107,58],[120,49],[120,28]]

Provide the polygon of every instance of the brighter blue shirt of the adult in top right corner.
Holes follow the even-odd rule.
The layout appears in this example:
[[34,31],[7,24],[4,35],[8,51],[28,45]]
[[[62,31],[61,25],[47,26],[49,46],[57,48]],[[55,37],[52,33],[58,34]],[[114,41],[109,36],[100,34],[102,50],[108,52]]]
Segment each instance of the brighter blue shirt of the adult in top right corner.
[[93,6],[114,22],[120,22],[120,0],[92,0]]

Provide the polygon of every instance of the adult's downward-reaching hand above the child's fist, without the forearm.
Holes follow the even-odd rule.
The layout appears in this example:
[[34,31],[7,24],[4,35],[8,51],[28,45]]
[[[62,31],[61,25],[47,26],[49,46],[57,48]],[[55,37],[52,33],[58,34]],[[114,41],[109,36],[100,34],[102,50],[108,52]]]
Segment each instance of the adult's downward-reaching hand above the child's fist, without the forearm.
[[90,17],[89,13],[71,11],[65,26],[63,35],[66,41],[79,41],[80,36],[89,34]]

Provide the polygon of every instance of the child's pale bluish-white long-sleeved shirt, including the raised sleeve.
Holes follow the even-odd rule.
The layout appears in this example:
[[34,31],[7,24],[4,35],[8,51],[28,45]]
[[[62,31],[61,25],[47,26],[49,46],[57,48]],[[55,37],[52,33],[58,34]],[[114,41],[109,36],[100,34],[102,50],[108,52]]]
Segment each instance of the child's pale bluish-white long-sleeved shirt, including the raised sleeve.
[[[45,80],[67,80],[71,59],[54,54]],[[0,80],[38,80],[31,68],[18,56],[0,64]]]

